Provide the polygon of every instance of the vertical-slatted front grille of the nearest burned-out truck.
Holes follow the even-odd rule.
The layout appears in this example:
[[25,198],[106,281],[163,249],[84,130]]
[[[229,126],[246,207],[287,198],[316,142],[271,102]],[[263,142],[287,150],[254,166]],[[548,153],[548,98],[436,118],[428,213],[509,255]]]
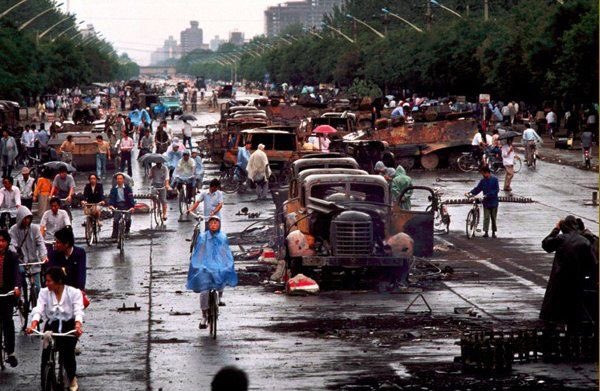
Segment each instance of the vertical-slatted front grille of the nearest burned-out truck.
[[370,221],[334,221],[332,225],[334,255],[371,254],[373,249],[373,227]]

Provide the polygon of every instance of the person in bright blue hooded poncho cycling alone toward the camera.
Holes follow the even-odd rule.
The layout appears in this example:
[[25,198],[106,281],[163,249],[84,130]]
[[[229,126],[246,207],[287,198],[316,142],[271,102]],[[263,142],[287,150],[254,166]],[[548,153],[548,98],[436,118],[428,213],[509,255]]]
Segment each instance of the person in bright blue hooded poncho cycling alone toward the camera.
[[221,219],[216,215],[208,219],[208,231],[198,236],[192,256],[186,288],[200,293],[202,321],[199,327],[207,327],[209,291],[219,292],[219,305],[225,286],[235,287],[238,277],[235,272],[233,254],[229,248],[227,235],[221,232]]

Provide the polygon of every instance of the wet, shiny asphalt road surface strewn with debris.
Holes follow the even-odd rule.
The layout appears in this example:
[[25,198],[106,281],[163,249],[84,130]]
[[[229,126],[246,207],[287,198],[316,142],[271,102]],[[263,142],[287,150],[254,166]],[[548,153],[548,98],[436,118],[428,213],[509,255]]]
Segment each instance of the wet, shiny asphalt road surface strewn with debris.
[[[201,121],[210,123],[214,118],[214,114],[206,114]],[[175,123],[174,130],[177,127]],[[207,167],[205,181],[217,168]],[[136,193],[146,192],[148,185],[140,170],[134,171]],[[415,184],[442,187],[444,198],[462,197],[479,178],[475,173],[454,171],[416,171],[411,175]],[[514,193],[537,202],[501,204],[499,239],[495,241],[467,240],[464,221],[469,206],[451,206],[451,232],[437,236],[435,261],[451,265],[457,275],[475,272],[477,277],[453,278],[426,289],[424,296],[434,315],[456,317],[454,307],[474,306],[484,322],[536,319],[552,264],[552,255],[540,247],[541,240],[567,213],[583,218],[597,231],[598,208],[585,205],[597,188],[597,175],[551,163],[540,164],[535,172],[524,168],[515,176]],[[83,178],[77,177],[81,186]],[[254,200],[252,194],[226,196],[224,231],[239,232],[251,223],[235,215],[243,206],[261,211],[261,218],[272,215],[272,204]],[[420,204],[415,195],[414,207]],[[110,222],[105,223],[101,243],[88,248],[82,239],[81,211],[74,211],[78,245],[88,251],[92,300],[81,339],[83,353],[78,357],[82,390],[204,390],[209,389],[210,379],[220,367],[232,364],[248,372],[252,389],[335,389],[369,376],[410,378],[407,368],[414,363],[451,362],[460,353],[454,345],[456,338],[444,335],[395,344],[369,331],[368,326],[354,339],[330,330],[282,327],[315,319],[327,324],[367,316],[402,318],[408,316],[404,309],[413,294],[334,291],[288,297],[257,285],[226,290],[227,306],[222,308],[219,337],[213,341],[208,332],[198,330],[198,295],[185,290],[194,222],[178,222],[178,214],[172,201],[164,231],[150,229],[149,215],[134,216],[132,237],[125,255],[120,256],[107,239]],[[257,244],[269,240],[261,239]],[[232,249],[240,250],[238,246]],[[241,270],[249,264],[239,262],[237,266]],[[139,311],[117,311],[123,304],[130,307],[134,303]],[[423,331],[418,324],[411,329]],[[20,364],[0,373],[0,389],[38,389],[39,353],[36,338],[18,336]],[[579,371],[546,368],[549,373],[545,373],[543,368],[528,370],[527,366],[518,371],[544,373],[581,388],[595,388],[594,379],[597,384],[593,365]]]

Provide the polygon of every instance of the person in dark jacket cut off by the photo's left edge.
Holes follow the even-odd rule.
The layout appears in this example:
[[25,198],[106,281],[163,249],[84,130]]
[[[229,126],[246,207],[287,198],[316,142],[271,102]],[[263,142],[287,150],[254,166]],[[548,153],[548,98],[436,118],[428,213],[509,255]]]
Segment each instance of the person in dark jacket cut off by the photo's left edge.
[[[14,290],[14,296],[0,297],[0,320],[4,333],[4,349],[7,353],[6,362],[11,367],[18,364],[15,357],[15,324],[13,323],[13,307],[15,297],[21,295],[21,276],[17,254],[8,249],[10,235],[8,231],[0,231],[0,294]],[[4,357],[0,357],[3,360]]]

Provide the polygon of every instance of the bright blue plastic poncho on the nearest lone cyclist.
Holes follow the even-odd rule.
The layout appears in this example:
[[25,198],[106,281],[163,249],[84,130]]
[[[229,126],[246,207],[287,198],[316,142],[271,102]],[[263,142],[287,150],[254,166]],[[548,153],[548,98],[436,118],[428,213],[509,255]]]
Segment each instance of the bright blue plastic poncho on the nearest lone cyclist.
[[194,292],[221,290],[226,285],[236,286],[237,282],[227,236],[222,232],[203,232],[192,252],[186,288]]

